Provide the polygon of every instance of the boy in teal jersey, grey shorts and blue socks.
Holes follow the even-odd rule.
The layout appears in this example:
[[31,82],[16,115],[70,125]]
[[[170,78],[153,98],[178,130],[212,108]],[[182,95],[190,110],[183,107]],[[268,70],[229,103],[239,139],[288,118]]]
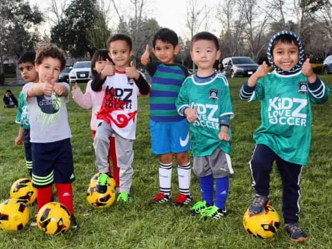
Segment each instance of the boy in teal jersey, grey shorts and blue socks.
[[233,173],[230,119],[234,113],[230,88],[225,76],[214,71],[214,63],[221,55],[215,35],[208,32],[194,35],[190,55],[198,71],[183,82],[176,100],[178,113],[190,122],[193,169],[200,178],[203,196],[203,201],[197,202],[190,214],[219,219],[226,214],[228,178]]

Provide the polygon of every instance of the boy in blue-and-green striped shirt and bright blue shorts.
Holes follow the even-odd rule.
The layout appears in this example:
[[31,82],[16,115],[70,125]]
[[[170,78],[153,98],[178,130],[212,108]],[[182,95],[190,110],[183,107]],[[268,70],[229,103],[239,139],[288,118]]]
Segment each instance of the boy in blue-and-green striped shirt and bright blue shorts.
[[[141,57],[151,76],[150,130],[151,150],[160,155],[160,193],[150,202],[166,203],[171,196],[173,154],[178,163],[178,188],[175,205],[181,207],[192,201],[190,192],[190,149],[188,122],[176,111],[175,101],[183,80],[189,75],[187,68],[174,62],[178,54],[178,36],[169,28],[158,30],[153,39],[153,52],[159,62],[151,62],[149,45]],[[163,142],[160,142],[163,141]]]

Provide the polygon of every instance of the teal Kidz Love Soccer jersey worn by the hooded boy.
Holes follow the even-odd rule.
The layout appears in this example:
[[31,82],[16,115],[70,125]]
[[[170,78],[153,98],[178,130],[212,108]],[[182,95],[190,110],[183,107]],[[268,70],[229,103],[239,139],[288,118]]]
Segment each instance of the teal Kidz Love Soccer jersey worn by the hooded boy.
[[254,133],[256,144],[267,145],[282,159],[299,165],[308,163],[311,146],[310,102],[320,104],[330,94],[324,83],[317,91],[311,91],[308,84],[301,72],[291,76],[272,73],[258,80],[249,100],[261,100],[261,126]]

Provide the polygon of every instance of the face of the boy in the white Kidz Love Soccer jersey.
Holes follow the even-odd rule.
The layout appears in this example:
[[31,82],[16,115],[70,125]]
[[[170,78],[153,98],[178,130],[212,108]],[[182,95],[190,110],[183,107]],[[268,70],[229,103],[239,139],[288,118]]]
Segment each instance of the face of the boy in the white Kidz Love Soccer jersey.
[[129,66],[129,59],[133,55],[133,51],[130,50],[129,45],[124,40],[116,40],[109,44],[109,57],[116,65],[116,70],[124,71]]

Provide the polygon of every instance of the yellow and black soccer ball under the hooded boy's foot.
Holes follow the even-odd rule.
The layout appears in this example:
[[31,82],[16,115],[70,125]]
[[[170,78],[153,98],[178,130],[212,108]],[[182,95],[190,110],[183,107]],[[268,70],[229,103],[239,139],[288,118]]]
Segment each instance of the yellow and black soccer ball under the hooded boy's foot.
[[246,232],[259,238],[273,237],[279,229],[280,219],[277,211],[266,205],[261,214],[249,216],[249,209],[243,215],[243,226]]

